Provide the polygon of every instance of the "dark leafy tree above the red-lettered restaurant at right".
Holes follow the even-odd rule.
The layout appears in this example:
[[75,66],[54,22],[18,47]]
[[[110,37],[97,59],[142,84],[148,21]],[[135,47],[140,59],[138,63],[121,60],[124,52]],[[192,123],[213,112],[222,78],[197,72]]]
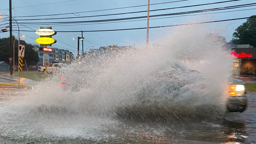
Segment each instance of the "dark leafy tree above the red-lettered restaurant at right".
[[248,18],[245,23],[240,25],[233,33],[231,42],[235,44],[250,44],[256,47],[256,15]]

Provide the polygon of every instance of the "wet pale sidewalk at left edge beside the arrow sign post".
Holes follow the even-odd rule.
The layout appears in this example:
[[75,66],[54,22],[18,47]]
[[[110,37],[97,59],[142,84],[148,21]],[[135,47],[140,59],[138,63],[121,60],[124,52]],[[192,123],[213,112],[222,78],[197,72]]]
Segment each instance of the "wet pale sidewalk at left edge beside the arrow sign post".
[[[10,74],[3,74],[0,73],[0,82],[4,82],[4,83],[18,83],[19,82],[19,78],[16,76],[12,76]],[[33,81],[31,79],[28,78],[20,78],[20,83],[21,84],[28,84],[30,86],[34,86],[37,84],[36,81]]]

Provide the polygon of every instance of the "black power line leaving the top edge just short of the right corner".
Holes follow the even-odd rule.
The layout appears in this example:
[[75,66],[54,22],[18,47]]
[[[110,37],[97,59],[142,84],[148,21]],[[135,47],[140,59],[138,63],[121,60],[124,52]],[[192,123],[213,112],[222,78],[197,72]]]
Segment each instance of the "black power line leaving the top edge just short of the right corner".
[[[241,0],[229,0],[229,1],[223,1],[223,2],[215,2],[215,3],[207,3],[207,4],[191,5],[191,6],[182,6],[182,7],[174,7],[174,8],[166,8],[166,9],[157,9],[157,10],[149,10],[149,11],[159,11],[159,10],[170,10],[170,9],[178,9],[178,8],[188,8],[188,7],[196,7],[196,6],[204,6],[204,5],[227,3],[227,2],[233,2],[233,1],[241,1]],[[85,17],[110,16],[110,15],[121,15],[121,14],[131,14],[131,13],[141,13],[141,12],[147,12],[147,10],[144,10],[144,11],[133,11],[133,12],[124,12],[124,13],[114,13],[114,14],[103,14],[103,15],[79,16],[79,17],[41,18],[41,19],[17,19],[17,21],[85,18]]]

